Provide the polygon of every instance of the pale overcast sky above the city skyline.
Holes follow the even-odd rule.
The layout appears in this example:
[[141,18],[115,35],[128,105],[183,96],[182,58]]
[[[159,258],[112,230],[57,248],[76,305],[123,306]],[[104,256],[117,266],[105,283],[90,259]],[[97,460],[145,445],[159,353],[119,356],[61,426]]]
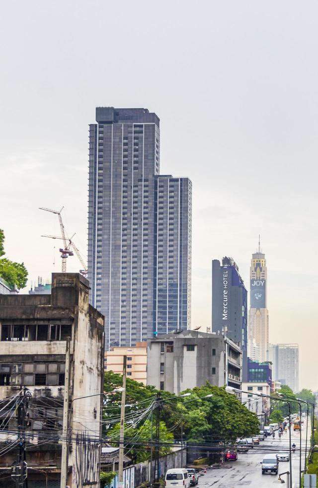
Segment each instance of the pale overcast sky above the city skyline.
[[192,327],[211,324],[212,259],[248,285],[261,234],[270,342],[299,343],[300,386],[317,390],[317,18],[311,0],[4,2],[0,228],[28,286],[61,267],[39,207],[64,207],[86,253],[95,107],[148,108],[161,174],[193,184]]

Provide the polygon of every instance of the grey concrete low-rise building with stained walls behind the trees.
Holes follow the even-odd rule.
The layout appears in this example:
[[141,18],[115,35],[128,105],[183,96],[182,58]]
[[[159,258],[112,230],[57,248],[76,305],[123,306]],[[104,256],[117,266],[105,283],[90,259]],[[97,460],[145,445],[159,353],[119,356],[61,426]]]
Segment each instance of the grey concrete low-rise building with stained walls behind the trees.
[[223,335],[186,330],[147,344],[147,384],[175,394],[207,381],[240,388],[242,351]]

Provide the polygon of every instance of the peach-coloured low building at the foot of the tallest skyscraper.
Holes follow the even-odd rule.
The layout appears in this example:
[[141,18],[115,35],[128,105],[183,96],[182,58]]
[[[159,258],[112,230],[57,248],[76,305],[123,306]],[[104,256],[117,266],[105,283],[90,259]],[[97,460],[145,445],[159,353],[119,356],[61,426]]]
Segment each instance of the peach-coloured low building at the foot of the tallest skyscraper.
[[127,356],[127,376],[147,384],[147,342],[137,342],[130,348],[112,347],[105,352],[105,370],[123,374],[124,356]]

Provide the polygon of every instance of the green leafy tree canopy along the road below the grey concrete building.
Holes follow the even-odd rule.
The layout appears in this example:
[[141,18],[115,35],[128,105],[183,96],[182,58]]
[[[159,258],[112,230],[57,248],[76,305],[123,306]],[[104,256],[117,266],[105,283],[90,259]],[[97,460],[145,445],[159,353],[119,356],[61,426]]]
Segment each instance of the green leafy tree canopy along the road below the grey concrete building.
[[[105,392],[112,391],[122,385],[120,374],[107,371],[104,378]],[[127,378],[126,405],[128,406],[126,416],[127,413],[138,413],[141,411],[140,409],[150,406],[157,393],[163,398],[160,409],[160,441],[174,440],[180,442],[182,431],[183,440],[188,442],[233,443],[237,438],[249,437],[259,431],[257,416],[247,410],[236,395],[228,393],[225,387],[212,386],[210,383],[188,389],[182,393],[190,393],[191,396],[180,397],[180,395],[177,396],[168,391],[158,391],[154,386],[145,386]],[[143,402],[142,406],[140,402]],[[106,424],[105,434],[109,435],[116,445],[118,443],[119,424],[115,423],[114,425],[113,422],[117,421],[119,411],[120,393],[108,395],[103,415]],[[138,438],[144,445],[147,445],[147,441],[151,437],[150,415],[138,425],[131,425],[129,422],[126,424],[125,439],[126,436],[128,439]],[[153,438],[154,435],[153,430]],[[165,447],[165,449],[169,449],[169,447]],[[133,453],[135,460],[149,459],[150,448],[148,446],[144,454],[139,454],[138,450],[134,452],[132,448],[131,453]]]

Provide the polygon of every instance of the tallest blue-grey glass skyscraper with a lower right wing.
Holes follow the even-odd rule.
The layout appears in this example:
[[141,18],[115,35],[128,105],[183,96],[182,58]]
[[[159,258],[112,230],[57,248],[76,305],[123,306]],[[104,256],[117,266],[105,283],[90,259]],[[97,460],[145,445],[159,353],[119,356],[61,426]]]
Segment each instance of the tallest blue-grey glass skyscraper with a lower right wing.
[[159,176],[156,114],[98,107],[96,122],[89,126],[88,279],[108,349],[190,325],[191,182]]

